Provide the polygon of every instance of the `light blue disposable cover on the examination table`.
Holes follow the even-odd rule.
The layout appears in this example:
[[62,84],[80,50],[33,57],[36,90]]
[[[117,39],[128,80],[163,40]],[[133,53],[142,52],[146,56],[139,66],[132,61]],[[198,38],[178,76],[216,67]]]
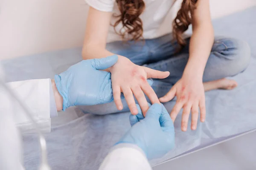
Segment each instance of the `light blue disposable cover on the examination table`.
[[[256,7],[213,21],[215,35],[247,41],[251,48],[249,67],[232,77],[239,86],[232,91],[206,93],[207,119],[195,131],[180,130],[181,114],[175,121],[175,148],[151,165],[159,164],[190,150],[205,147],[229,136],[256,129]],[[36,42],[35,42],[36,43]],[[81,48],[53,51],[2,61],[8,81],[53,78],[81,61]],[[166,103],[171,111],[175,101]],[[93,106],[97,107],[97,106]],[[108,109],[108,108],[106,108]],[[130,128],[129,113],[84,114],[73,107],[52,119],[46,134],[49,164],[56,170],[96,170],[112,145]],[[24,164],[35,170],[40,150],[36,134],[23,135]]]

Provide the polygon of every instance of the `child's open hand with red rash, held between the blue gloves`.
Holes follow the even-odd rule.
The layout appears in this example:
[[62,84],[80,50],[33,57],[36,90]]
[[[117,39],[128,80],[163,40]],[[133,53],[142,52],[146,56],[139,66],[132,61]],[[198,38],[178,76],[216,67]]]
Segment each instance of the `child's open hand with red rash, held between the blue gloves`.
[[154,90],[148,84],[147,79],[164,79],[170,74],[168,71],[162,72],[136,65],[128,58],[122,56],[119,56],[118,61],[111,67],[110,72],[116,108],[119,110],[123,108],[120,98],[122,92],[131,113],[134,115],[138,113],[134,100],[135,96],[144,116],[146,111],[148,111],[148,102],[143,92],[148,96],[152,104],[160,103]]

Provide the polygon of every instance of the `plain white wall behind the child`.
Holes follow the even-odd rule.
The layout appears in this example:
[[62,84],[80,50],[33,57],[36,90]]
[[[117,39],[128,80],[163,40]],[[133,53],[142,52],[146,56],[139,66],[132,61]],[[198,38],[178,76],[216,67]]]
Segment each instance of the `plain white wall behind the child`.
[[[256,0],[210,0],[212,18]],[[88,6],[84,0],[0,0],[0,59],[82,45]]]

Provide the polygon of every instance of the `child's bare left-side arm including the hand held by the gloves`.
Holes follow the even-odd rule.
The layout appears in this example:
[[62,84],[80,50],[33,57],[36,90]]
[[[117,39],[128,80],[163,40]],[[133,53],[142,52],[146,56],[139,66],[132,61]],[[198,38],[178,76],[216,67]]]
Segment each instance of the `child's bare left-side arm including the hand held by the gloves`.
[[[113,55],[106,50],[111,15],[112,12],[99,11],[90,7],[82,51],[83,59],[102,58]],[[118,56],[116,64],[107,71],[111,72],[113,97],[116,107],[119,110],[123,108],[120,98],[122,92],[132,114],[138,113],[134,96],[144,114],[148,110],[148,102],[144,93],[148,96],[152,104],[160,103],[157,95],[146,79],[163,79],[169,76],[169,72],[156,71],[135,65],[123,56]]]

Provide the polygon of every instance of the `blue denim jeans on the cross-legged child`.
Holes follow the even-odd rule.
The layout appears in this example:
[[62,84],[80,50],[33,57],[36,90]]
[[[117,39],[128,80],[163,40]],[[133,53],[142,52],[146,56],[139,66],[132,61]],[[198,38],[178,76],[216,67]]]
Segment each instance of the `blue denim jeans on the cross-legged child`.
[[[177,42],[171,42],[167,34],[145,42],[111,42],[107,50],[114,54],[127,57],[137,65],[143,65],[159,71],[169,71],[166,79],[154,79],[152,88],[158,97],[164,96],[182,76],[189,59],[189,41],[179,53],[175,53]],[[233,38],[215,37],[212,50],[207,61],[203,82],[234,76],[244,71],[250,62],[250,47],[247,42]],[[123,110],[129,111],[125,99],[122,100]],[[82,107],[84,111],[95,114],[120,112],[114,102]]]

